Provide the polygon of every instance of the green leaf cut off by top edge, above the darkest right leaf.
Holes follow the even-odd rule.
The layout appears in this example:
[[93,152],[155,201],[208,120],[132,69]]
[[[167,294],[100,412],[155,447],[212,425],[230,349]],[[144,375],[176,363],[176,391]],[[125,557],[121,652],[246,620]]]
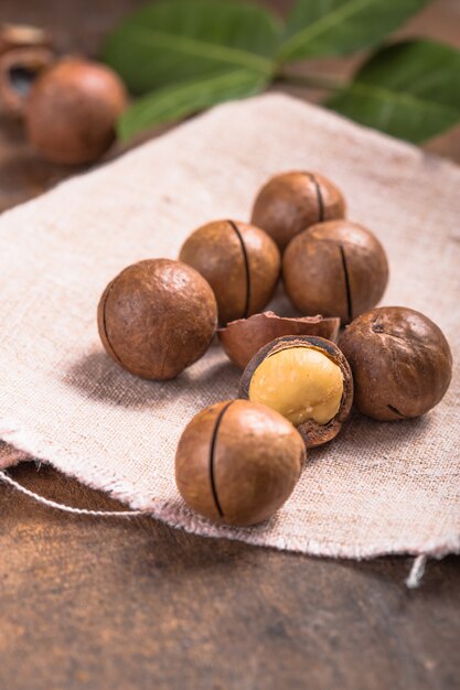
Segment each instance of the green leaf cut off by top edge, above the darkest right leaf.
[[280,62],[344,55],[377,45],[427,0],[297,0]]

